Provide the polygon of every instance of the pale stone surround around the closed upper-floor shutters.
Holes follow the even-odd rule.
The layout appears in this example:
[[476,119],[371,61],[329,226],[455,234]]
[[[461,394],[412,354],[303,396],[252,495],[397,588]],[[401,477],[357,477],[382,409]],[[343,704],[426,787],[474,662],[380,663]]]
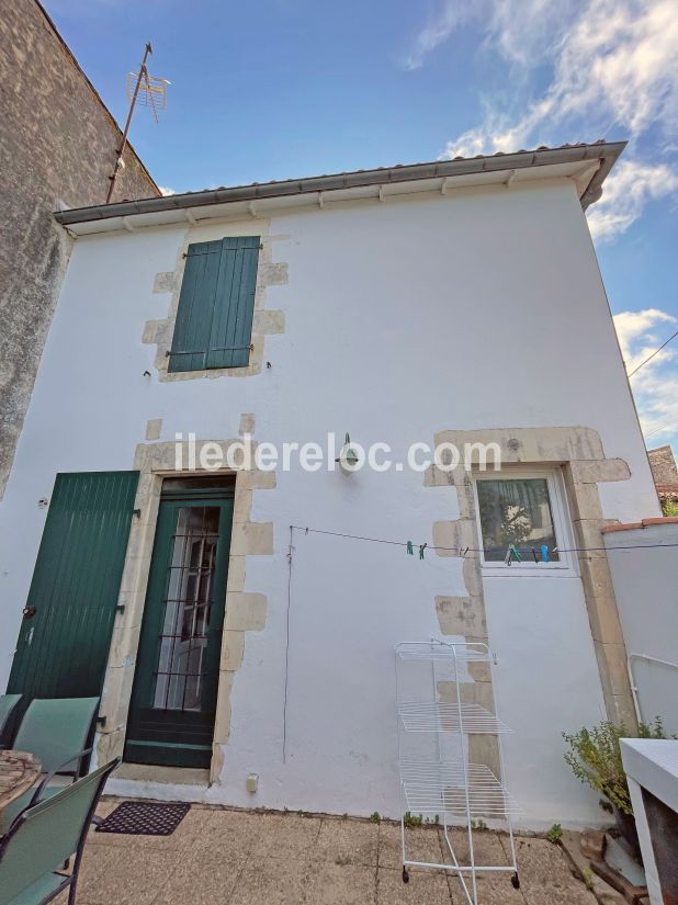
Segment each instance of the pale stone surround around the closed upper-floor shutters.
[[[267,290],[269,286],[282,286],[287,283],[287,264],[273,262],[272,242],[275,238],[269,235],[270,222],[264,218],[252,218],[239,223],[210,224],[194,226],[187,230],[183,241],[177,252],[177,263],[173,271],[156,273],[154,278],[154,293],[171,293],[168,316],[162,320],[148,320],[144,326],[142,341],[148,346],[156,346],[155,366],[159,381],[187,381],[204,377],[249,377],[260,374],[263,366],[264,338],[271,333],[283,333],[285,330],[285,315],[282,310],[268,310]],[[193,242],[211,241],[226,237],[259,235],[261,250],[257,268],[257,286],[255,290],[255,314],[252,318],[252,338],[249,364],[245,367],[211,367],[202,371],[169,372],[168,352],[172,346],[174,323],[179,308],[181,283],[185,269],[189,245]]]

